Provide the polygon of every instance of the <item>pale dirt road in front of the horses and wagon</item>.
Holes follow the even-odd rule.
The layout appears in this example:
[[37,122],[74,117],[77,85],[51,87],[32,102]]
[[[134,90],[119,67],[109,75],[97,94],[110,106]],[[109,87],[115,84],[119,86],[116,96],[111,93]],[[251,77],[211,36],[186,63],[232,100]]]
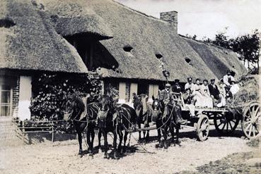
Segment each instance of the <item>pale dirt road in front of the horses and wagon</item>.
[[[189,131],[189,132],[187,132]],[[119,160],[103,159],[96,151],[93,159],[88,154],[82,158],[76,140],[50,144],[0,148],[0,173],[177,173],[182,170],[197,172],[197,167],[222,159],[236,152],[253,151],[248,140],[219,137],[215,130],[205,142],[198,142],[195,132],[182,130],[181,146],[156,149],[156,131],[151,131],[151,142],[143,144],[149,154],[132,138],[127,156]],[[153,137],[154,136],[154,137]],[[137,133],[134,134],[137,137]],[[109,144],[112,138],[109,136]],[[97,142],[95,141],[95,145]],[[83,143],[83,148],[86,145]]]

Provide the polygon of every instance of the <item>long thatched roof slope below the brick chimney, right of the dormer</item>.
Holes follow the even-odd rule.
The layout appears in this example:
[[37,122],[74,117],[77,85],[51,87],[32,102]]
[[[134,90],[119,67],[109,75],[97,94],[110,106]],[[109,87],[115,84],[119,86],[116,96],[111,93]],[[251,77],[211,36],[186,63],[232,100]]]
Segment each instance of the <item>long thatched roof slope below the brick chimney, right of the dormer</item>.
[[[233,52],[181,37],[163,20],[111,0],[89,0],[85,6],[100,15],[115,33],[112,39],[100,42],[120,66],[118,70],[103,68],[104,77],[165,80],[159,68],[161,61],[170,71],[170,80],[179,78],[183,82],[189,76],[219,79],[233,66],[238,75],[245,73]],[[133,49],[126,52],[124,46]],[[163,58],[156,58],[156,54]]]

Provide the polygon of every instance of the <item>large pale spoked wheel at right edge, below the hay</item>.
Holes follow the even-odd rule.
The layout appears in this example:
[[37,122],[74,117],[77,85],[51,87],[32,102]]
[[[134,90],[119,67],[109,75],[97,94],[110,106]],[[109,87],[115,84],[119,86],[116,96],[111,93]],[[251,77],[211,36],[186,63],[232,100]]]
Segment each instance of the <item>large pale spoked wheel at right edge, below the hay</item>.
[[261,109],[260,103],[251,102],[243,111],[242,130],[249,139],[261,135]]

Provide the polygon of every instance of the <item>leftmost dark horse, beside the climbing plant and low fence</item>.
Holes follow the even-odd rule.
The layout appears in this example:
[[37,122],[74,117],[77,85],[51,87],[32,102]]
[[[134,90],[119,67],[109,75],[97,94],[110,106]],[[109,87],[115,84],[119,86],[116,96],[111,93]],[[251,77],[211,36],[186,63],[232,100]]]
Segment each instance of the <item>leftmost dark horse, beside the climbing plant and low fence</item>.
[[79,155],[83,156],[82,136],[81,132],[86,130],[86,139],[88,144],[88,153],[93,156],[93,140],[95,136],[95,120],[97,119],[98,103],[93,102],[87,104],[87,98],[81,99],[76,95],[69,97],[65,105],[64,120],[69,120],[74,123],[78,140],[79,140]]

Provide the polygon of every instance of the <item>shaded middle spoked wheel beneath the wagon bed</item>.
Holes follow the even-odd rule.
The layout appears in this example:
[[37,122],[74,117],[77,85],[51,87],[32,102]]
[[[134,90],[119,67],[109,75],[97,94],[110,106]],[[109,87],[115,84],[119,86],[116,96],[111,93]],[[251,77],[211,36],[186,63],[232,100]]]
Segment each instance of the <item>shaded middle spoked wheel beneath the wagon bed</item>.
[[229,135],[238,126],[239,119],[233,116],[233,113],[215,113],[214,114],[214,125],[220,134]]

